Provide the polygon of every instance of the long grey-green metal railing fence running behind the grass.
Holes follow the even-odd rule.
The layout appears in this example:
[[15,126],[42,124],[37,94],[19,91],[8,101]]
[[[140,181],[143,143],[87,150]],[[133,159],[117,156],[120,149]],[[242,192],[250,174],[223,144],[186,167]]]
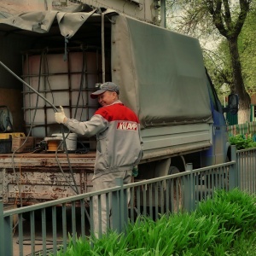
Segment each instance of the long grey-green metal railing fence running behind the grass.
[[[222,165],[193,170],[188,164],[186,172],[125,185],[117,178],[117,185],[111,189],[29,207],[3,211],[0,202],[0,255],[55,255],[59,247],[66,251],[69,241],[75,243],[78,236],[88,238],[94,234],[96,215],[100,223],[98,235],[102,236],[102,201],[107,202],[107,229],[121,232],[128,221],[133,224],[140,215],[158,218],[161,214],[192,211],[200,201],[212,196],[214,189],[241,186],[253,192],[255,150],[236,153],[232,147],[231,161]],[[246,171],[248,168],[250,172]],[[93,199],[99,214],[94,212]]]

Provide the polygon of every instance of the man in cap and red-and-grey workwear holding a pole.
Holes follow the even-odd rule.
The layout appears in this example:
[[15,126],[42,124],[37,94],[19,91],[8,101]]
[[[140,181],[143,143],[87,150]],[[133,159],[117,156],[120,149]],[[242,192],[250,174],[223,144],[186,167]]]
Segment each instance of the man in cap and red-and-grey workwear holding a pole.
[[[119,101],[119,87],[112,82],[102,84],[100,90],[91,93],[90,97],[97,98],[102,108],[99,108],[89,121],[68,119],[62,107],[61,112],[55,113],[55,120],[80,135],[96,135],[96,164],[92,178],[94,191],[114,187],[115,177],[122,177],[124,184],[131,183],[132,170],[143,157],[143,142],[137,115]],[[97,200],[94,199],[96,236],[101,231],[107,231],[107,205],[107,201],[102,200],[101,225]]]

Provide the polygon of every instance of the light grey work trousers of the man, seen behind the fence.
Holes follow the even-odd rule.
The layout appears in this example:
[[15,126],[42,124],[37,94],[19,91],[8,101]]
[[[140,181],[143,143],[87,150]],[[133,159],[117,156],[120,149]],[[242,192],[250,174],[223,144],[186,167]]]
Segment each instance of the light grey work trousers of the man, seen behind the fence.
[[[132,170],[111,172],[104,174],[100,177],[92,178],[92,191],[98,191],[102,189],[109,189],[116,186],[115,177],[122,177],[123,183],[131,183]],[[127,191],[127,204],[130,201],[130,193]],[[105,194],[101,196],[93,197],[93,224],[94,224],[94,235],[96,237],[101,236],[111,228],[111,195],[106,197]],[[99,212],[100,211],[100,212]],[[90,230],[92,231],[92,230]]]

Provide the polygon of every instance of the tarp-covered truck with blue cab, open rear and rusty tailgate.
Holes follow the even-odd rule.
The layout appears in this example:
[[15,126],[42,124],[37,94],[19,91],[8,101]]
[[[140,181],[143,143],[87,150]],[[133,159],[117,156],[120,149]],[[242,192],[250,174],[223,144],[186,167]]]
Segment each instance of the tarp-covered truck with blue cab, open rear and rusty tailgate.
[[[90,93],[106,81],[119,85],[120,101],[140,119],[143,159],[135,182],[184,172],[188,163],[199,168],[230,159],[224,113],[237,112],[238,98],[230,95],[223,108],[199,40],[160,26],[165,1],[123,1],[130,13],[118,1],[102,1],[107,8],[87,2],[0,20],[4,204],[26,206],[91,191],[96,138],[69,134],[55,123],[53,107],[88,120],[99,108]],[[131,15],[135,10],[139,14]],[[61,135],[67,135],[67,147],[60,148]]]

